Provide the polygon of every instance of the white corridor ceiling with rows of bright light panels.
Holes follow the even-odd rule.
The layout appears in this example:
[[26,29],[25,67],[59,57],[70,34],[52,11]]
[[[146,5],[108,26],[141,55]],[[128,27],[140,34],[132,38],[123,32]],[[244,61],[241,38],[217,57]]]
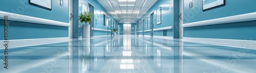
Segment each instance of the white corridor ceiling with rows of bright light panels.
[[97,0],[118,22],[135,23],[157,0]]

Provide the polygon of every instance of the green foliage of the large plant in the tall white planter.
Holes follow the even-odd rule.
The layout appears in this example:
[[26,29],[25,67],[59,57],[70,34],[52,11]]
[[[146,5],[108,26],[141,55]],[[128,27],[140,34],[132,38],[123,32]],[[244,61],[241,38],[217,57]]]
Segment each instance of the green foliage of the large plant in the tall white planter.
[[86,24],[87,24],[87,22],[90,22],[90,21],[93,20],[92,19],[92,14],[89,13],[89,12],[87,13],[87,12],[84,11],[83,14],[80,14],[79,20],[80,20],[81,23],[86,22]]

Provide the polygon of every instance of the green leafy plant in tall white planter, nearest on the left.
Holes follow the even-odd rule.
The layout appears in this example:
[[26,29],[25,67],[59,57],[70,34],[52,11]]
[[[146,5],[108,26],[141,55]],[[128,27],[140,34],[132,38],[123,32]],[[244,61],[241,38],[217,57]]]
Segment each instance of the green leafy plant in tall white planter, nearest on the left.
[[82,25],[82,38],[90,38],[90,24],[88,25],[87,23],[92,21],[92,14],[83,12],[83,14],[80,14],[79,20],[81,23],[85,22],[85,25]]

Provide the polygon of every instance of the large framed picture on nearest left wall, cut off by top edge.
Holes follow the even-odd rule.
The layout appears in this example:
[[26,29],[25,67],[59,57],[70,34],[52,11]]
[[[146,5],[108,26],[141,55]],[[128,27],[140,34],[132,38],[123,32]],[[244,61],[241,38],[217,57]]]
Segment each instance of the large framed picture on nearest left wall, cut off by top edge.
[[29,4],[52,10],[52,0],[29,0]]

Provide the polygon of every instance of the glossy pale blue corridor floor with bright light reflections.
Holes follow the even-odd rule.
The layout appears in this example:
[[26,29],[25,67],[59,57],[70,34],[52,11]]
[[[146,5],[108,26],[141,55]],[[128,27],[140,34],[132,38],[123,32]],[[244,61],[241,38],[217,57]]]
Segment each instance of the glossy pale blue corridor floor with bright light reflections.
[[179,39],[120,35],[10,48],[8,63],[8,69],[0,68],[1,72],[253,73],[256,51]]

